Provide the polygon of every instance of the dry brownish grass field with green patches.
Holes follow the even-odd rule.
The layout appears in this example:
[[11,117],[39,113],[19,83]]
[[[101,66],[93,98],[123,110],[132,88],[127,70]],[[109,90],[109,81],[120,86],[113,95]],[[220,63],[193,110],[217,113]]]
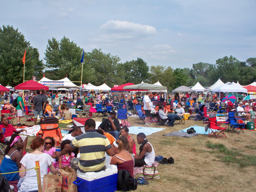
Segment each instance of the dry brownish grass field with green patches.
[[[101,118],[93,119],[101,121]],[[142,125],[136,118],[129,118],[129,122],[131,126]],[[61,129],[67,125],[59,124]],[[187,138],[163,136],[195,125],[205,126],[203,122],[194,120],[186,120],[185,125],[175,127],[152,124],[151,127],[166,128],[147,136],[155,155],[173,157],[175,164],[159,164],[160,180],[138,186],[137,191],[256,191],[256,131],[245,130],[239,135],[226,132],[227,138],[222,139],[207,135]],[[136,135],[131,136],[136,140]]]

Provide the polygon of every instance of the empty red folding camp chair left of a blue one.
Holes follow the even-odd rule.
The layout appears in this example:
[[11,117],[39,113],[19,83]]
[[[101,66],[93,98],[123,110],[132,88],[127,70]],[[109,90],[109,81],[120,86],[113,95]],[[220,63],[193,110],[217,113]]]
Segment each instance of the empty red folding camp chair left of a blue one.
[[[211,112],[209,114],[209,133],[208,136],[212,137],[212,136],[216,136],[218,139],[221,139],[222,136],[225,136],[225,130],[228,126],[226,127],[220,127],[220,124],[226,124],[228,122],[217,122],[217,118],[216,118],[216,113]],[[218,136],[221,135],[221,136]]]

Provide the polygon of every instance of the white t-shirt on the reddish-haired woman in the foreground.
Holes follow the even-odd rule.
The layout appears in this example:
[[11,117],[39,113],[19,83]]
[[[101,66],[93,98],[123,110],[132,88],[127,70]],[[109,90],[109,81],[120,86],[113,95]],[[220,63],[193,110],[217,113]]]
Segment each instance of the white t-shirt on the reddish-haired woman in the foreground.
[[[39,155],[27,153],[24,155],[20,163],[24,165],[26,169],[35,168],[35,161],[39,161],[40,165],[40,174],[41,174],[41,182],[43,185],[43,177],[47,174],[47,168],[52,164],[53,158],[47,153],[42,153]],[[36,178],[36,170],[31,169],[27,170],[24,176],[24,180],[19,187],[19,191],[35,191],[38,190],[38,180]]]

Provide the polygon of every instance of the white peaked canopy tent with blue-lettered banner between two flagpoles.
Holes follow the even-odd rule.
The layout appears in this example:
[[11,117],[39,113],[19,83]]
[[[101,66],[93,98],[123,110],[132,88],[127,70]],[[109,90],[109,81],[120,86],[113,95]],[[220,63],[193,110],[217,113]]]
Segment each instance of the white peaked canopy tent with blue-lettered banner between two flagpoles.
[[42,85],[46,85],[49,88],[71,88],[77,87],[77,85],[73,84],[72,81],[65,77],[61,80],[50,80],[46,77],[43,77],[40,81],[38,81]]

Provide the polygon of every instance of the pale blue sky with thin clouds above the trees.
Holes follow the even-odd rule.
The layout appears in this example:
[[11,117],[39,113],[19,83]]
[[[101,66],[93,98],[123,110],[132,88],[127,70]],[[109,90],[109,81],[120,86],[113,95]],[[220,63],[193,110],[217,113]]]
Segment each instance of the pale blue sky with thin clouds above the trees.
[[255,0],[14,0],[1,7],[0,26],[18,28],[40,59],[48,39],[63,36],[87,52],[174,69],[256,57]]

